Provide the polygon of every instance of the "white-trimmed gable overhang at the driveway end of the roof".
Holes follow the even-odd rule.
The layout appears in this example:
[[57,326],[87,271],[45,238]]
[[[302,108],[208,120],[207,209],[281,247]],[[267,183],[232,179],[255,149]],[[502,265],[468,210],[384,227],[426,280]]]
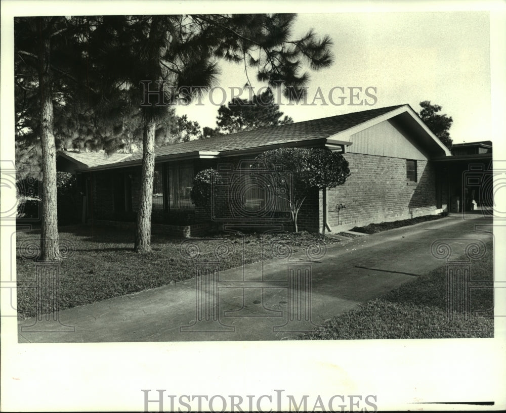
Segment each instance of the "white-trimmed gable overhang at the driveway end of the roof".
[[401,106],[383,115],[376,116],[366,122],[355,125],[349,129],[338,132],[329,137],[329,139],[340,139],[350,141],[352,135],[371,126],[381,123],[385,120],[395,118],[395,121],[402,126],[409,128],[415,134],[417,140],[427,147],[429,152],[437,155],[451,156],[449,149],[432,133],[427,125],[420,119],[418,114],[409,105]]

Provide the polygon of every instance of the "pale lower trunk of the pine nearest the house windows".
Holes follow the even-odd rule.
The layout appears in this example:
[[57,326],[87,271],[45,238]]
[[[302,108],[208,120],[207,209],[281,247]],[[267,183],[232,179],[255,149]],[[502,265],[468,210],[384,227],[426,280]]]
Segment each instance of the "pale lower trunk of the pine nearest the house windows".
[[155,170],[156,122],[146,121],[143,137],[141,200],[137,214],[135,251],[151,251],[151,208],[153,205],[153,175]]

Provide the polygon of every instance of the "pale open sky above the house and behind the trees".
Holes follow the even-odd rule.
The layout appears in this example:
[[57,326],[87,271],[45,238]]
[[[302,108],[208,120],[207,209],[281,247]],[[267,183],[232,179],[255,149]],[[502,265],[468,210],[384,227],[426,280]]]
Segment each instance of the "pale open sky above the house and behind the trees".
[[[399,104],[419,112],[419,102],[428,100],[453,118],[454,143],[492,139],[489,12],[299,14],[293,36],[310,28],[331,37],[334,63],[319,72],[309,71],[308,103],[313,103],[318,88],[324,101],[287,106],[281,100],[280,110],[294,121]],[[230,87],[243,87],[247,80],[243,65],[221,62],[220,67],[212,97],[204,97],[199,105],[179,106],[179,115],[216,127],[218,106],[225,101],[222,90],[227,91],[228,102]],[[255,81],[254,70],[248,77],[255,90],[263,86]],[[335,86],[343,89],[333,89],[332,104],[328,95]],[[375,100],[364,95],[368,87]],[[358,96],[352,100],[351,94]],[[241,97],[248,97],[247,91]]]

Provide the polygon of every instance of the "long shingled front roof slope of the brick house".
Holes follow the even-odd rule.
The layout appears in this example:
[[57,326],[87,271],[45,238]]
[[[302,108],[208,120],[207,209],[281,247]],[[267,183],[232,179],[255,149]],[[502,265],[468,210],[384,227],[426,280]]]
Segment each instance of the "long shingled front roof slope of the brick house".
[[[306,120],[303,122],[289,123],[280,126],[266,126],[245,132],[237,132],[223,136],[209,137],[207,139],[198,139],[179,144],[159,146],[155,148],[155,156],[160,157],[196,151],[232,151],[297,142],[307,139],[327,138],[335,133],[367,122],[368,120],[384,115],[402,106],[406,105],[388,106],[386,108],[370,109],[361,112]],[[89,155],[89,153],[86,155]],[[139,151],[121,159],[121,162],[132,162],[141,159],[142,151]],[[86,162],[83,161],[83,163]],[[110,158],[108,163],[117,164],[118,161],[113,161],[112,158]]]

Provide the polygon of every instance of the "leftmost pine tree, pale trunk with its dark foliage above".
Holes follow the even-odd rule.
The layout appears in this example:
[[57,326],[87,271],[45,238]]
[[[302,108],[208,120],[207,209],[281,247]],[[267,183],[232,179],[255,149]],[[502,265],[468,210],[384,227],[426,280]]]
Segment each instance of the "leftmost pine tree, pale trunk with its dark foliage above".
[[[82,20],[20,17],[14,21],[17,160],[40,163],[42,216],[40,257],[59,258],[56,148],[62,114],[81,90],[79,32]],[[39,157],[39,160],[37,159]]]

